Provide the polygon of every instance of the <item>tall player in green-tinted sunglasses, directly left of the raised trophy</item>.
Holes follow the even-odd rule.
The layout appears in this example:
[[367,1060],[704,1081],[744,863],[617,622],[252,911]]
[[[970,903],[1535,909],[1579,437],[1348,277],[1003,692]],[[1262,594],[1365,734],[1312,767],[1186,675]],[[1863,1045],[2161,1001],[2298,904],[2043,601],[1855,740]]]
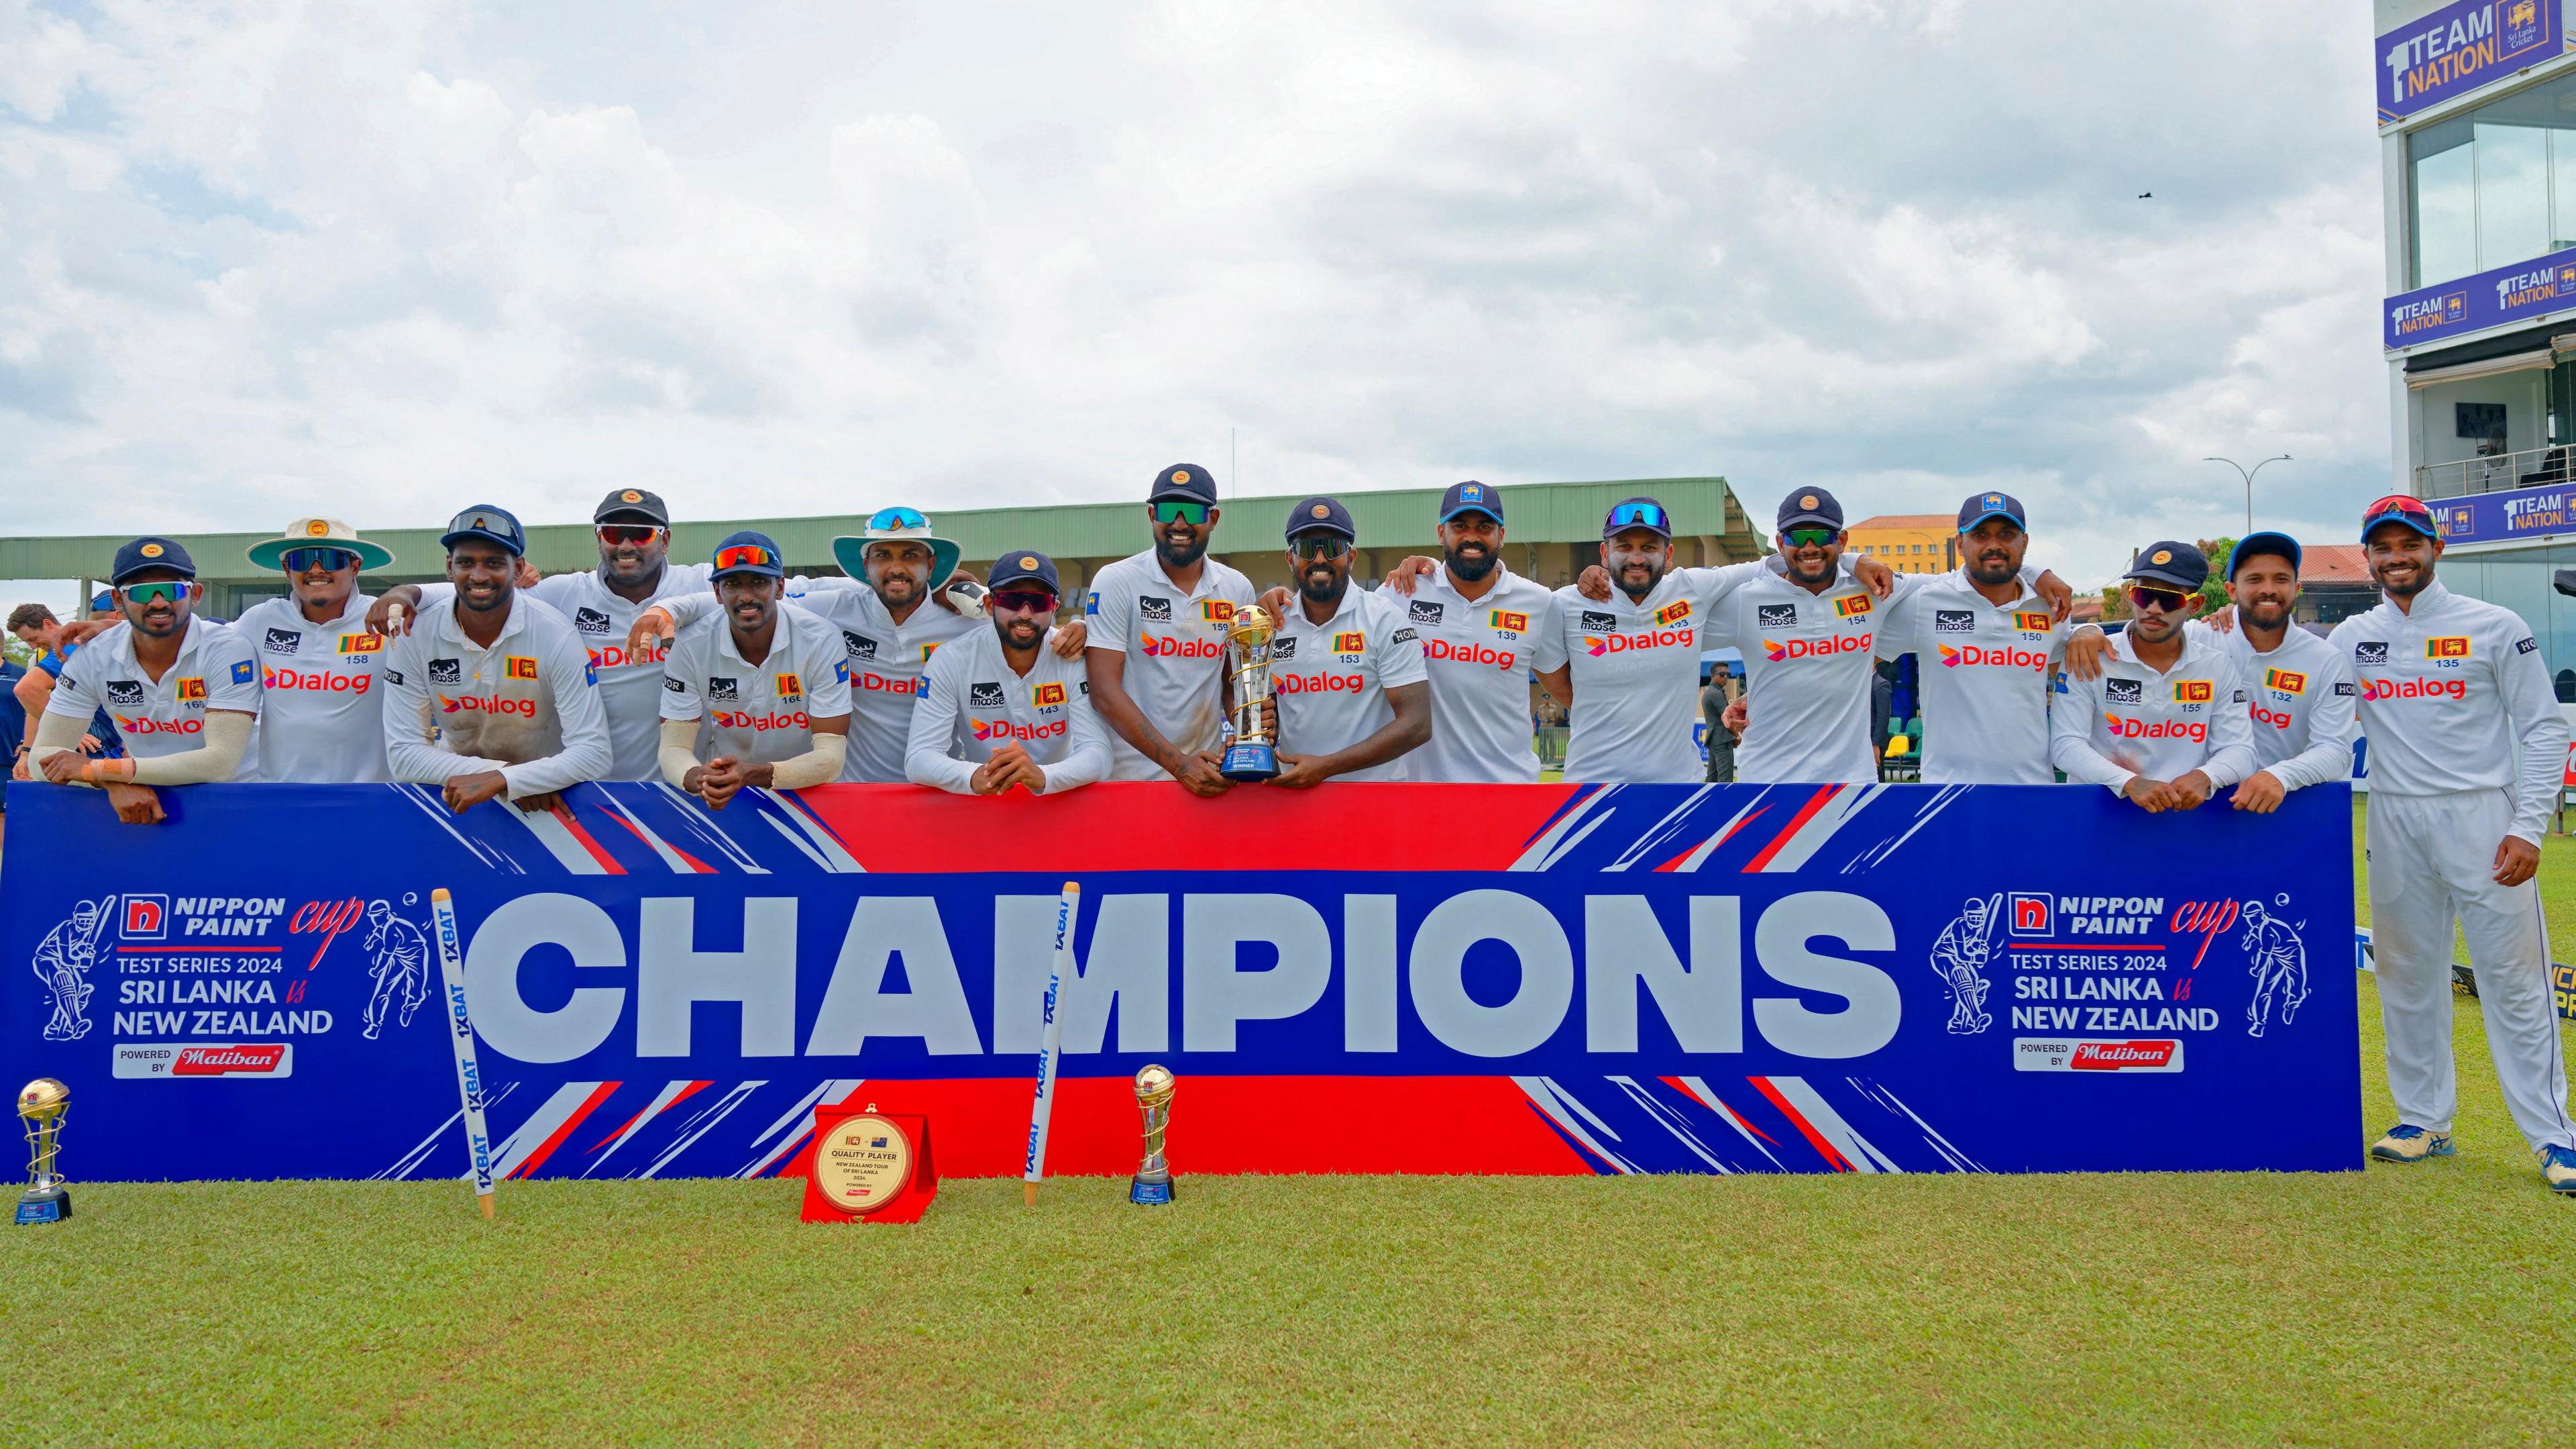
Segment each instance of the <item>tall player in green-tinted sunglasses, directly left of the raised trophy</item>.
[[1226,740],[1226,632],[1252,603],[1252,580],[1208,557],[1216,480],[1172,464],[1146,495],[1154,547],[1092,578],[1092,709],[1110,727],[1110,779],[1177,779],[1224,794],[1216,750]]

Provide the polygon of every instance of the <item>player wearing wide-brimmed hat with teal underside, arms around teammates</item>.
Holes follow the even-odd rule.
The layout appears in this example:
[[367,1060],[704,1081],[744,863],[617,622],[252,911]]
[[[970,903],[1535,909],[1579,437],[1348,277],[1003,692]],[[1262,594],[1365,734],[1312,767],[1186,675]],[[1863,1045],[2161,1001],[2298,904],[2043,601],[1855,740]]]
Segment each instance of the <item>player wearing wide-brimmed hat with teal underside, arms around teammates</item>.
[[[786,601],[822,614],[840,629],[850,657],[850,784],[904,781],[912,712],[930,655],[984,629],[984,585],[958,570],[958,544],[943,539],[917,508],[878,508],[860,534],[832,539],[842,578],[788,575]],[[711,596],[667,598],[636,634],[688,624],[714,608]],[[1048,645],[1082,657],[1082,624],[1056,629]]]

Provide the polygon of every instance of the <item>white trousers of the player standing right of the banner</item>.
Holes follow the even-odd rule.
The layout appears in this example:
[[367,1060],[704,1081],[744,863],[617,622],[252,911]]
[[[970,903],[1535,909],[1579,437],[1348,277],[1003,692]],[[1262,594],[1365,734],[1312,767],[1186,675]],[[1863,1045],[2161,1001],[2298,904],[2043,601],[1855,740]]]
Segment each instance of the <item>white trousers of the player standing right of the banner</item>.
[[2370,946],[2388,1031],[2388,1096],[2398,1122],[2450,1132],[2460,1104],[2450,1060],[2450,926],[2458,920],[2514,1127],[2532,1150],[2576,1147],[2540,882],[2496,884],[2496,846],[2512,822],[2514,799],[2501,789],[2370,792]]

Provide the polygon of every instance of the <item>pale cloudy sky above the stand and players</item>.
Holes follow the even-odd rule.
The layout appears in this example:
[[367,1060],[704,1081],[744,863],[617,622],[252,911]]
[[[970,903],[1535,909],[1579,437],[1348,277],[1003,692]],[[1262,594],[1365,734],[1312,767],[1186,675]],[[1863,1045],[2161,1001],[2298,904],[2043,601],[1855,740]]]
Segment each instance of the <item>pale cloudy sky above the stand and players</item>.
[[[0,0],[21,534],[2388,469],[2362,5]],[[2141,191],[2154,191],[2141,201]],[[2038,557],[2035,554],[2035,557]]]

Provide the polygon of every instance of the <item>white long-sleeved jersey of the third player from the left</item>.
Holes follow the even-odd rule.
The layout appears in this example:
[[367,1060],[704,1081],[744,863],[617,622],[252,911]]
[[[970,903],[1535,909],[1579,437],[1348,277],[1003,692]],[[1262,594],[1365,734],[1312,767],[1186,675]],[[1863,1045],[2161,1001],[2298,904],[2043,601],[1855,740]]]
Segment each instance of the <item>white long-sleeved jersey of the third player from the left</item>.
[[608,714],[590,647],[528,590],[484,650],[456,627],[456,598],[422,603],[384,660],[384,763],[397,781],[500,771],[510,799],[613,779]]

